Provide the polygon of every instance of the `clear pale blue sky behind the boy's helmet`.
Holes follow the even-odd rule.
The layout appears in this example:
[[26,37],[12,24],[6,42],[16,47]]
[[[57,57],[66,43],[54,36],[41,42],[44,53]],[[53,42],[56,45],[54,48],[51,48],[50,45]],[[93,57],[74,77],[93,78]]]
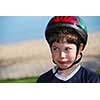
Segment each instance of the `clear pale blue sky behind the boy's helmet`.
[[[51,16],[0,16],[0,43],[43,39]],[[82,16],[89,32],[100,31],[100,16]]]

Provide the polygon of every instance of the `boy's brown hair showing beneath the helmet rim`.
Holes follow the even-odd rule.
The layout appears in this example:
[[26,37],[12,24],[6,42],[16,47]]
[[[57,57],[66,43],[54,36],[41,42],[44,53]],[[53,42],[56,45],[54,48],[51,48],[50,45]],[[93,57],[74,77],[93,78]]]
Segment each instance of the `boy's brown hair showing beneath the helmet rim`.
[[72,28],[60,28],[52,31],[51,34],[46,35],[46,40],[48,41],[48,44],[50,47],[52,46],[53,42],[58,43],[73,43],[77,46],[77,49],[80,46],[80,43],[82,43],[81,37],[76,33],[76,31]]

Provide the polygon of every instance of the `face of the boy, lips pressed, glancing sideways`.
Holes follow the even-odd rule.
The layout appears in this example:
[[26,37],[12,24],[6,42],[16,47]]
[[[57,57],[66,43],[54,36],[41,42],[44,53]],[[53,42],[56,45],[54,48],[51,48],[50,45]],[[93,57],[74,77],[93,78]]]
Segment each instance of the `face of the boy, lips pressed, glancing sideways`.
[[75,44],[54,42],[51,46],[52,59],[62,69],[71,66],[76,58],[76,52]]

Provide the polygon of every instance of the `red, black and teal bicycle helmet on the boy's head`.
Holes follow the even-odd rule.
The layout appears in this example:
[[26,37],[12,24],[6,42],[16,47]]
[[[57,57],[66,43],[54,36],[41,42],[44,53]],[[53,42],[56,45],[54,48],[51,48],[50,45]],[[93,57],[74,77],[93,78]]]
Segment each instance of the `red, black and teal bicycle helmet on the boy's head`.
[[[84,21],[79,16],[54,16],[48,23],[45,30],[45,37],[47,39],[47,34],[52,34],[51,32],[57,28],[65,27],[72,28],[77,34],[82,38],[84,47],[87,43],[87,27]],[[84,49],[84,48],[83,48]]]

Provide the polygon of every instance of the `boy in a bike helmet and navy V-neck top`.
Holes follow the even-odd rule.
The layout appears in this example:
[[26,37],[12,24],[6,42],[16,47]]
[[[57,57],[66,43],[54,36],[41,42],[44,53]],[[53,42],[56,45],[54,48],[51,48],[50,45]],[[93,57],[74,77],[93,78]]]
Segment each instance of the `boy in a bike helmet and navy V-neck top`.
[[55,16],[45,31],[54,68],[41,75],[37,83],[97,83],[100,77],[78,65],[88,34],[84,21],[77,16]]

